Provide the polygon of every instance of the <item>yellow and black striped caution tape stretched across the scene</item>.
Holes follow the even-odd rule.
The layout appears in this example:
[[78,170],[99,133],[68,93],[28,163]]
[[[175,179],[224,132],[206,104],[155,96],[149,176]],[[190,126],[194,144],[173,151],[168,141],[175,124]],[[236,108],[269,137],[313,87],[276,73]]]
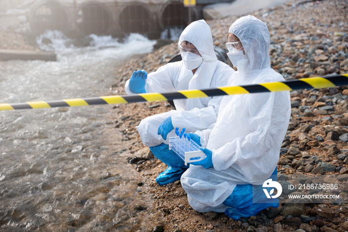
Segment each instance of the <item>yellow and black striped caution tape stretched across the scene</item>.
[[348,74],[329,77],[302,78],[285,82],[269,82],[245,86],[226,86],[206,90],[180,90],[170,93],[147,93],[136,95],[104,96],[96,98],[63,99],[26,103],[3,103],[0,111],[40,109],[53,107],[78,107],[103,104],[127,104],[135,102],[169,101],[174,99],[205,98],[212,96],[253,94],[263,92],[292,91],[298,89],[320,89],[348,85]]

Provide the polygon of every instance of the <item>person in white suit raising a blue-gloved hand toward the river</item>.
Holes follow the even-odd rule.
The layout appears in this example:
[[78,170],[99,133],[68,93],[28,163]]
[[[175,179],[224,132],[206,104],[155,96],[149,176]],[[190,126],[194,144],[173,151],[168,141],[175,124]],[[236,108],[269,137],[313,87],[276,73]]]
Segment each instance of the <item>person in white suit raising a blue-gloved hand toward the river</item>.
[[[210,89],[226,86],[228,78],[235,72],[227,64],[218,61],[209,25],[204,20],[190,23],[178,41],[182,60],[168,63],[156,72],[134,71],[126,82],[127,94],[148,92],[166,93],[189,89]],[[176,110],[147,117],[136,126],[142,142],[154,155],[168,165],[156,181],[160,185],[179,180],[188,168],[183,160],[169,150],[169,137],[175,136],[174,127],[196,131],[208,128],[216,122],[222,97],[206,97],[174,100]]]

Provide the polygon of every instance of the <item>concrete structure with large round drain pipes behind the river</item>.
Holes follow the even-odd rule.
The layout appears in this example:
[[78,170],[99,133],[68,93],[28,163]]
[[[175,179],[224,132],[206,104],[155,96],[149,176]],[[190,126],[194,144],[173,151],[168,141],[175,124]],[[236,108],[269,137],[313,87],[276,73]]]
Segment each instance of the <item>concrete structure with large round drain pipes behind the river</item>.
[[[166,28],[203,18],[207,4],[233,0],[196,0],[184,7],[183,0],[26,0],[29,31],[38,35],[47,29],[61,30],[71,37],[89,34],[122,37],[136,32],[159,38]],[[17,5],[18,7],[18,5]]]

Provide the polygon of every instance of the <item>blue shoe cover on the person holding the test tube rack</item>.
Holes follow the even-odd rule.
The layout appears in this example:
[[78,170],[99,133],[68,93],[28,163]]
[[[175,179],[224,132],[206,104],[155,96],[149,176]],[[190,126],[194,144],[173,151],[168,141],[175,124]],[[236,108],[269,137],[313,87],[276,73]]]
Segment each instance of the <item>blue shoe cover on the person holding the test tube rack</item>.
[[[277,170],[272,173],[272,180],[276,181]],[[222,203],[231,207],[225,211],[229,218],[239,220],[240,217],[256,216],[261,210],[268,207],[278,208],[279,200],[267,199],[262,185],[237,185],[232,194]]]

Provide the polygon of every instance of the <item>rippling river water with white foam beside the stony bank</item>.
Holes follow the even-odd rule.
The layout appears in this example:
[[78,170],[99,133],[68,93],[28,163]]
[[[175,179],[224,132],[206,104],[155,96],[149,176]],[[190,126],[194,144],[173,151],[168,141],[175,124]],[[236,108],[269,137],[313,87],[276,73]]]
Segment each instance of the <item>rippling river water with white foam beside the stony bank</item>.
[[[42,43],[48,37],[52,43]],[[0,62],[0,102],[117,95],[117,71],[156,41],[131,34],[76,47],[58,31],[38,37],[57,62]],[[134,67],[136,69],[136,67]],[[120,155],[112,106],[0,112],[0,231],[136,231],[139,175]]]

